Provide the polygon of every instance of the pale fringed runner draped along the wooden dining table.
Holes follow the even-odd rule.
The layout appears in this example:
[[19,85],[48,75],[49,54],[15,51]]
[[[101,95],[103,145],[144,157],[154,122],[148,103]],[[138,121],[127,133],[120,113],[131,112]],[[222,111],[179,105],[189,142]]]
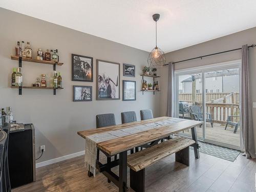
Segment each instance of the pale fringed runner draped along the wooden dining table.
[[121,130],[115,130],[100,134],[94,134],[86,137],[86,150],[85,150],[85,166],[94,175],[96,171],[96,154],[97,154],[97,143],[101,141],[111,140],[126,135],[132,135],[135,133],[155,129],[159,126],[170,125],[177,122],[184,121],[185,119],[166,119],[162,121],[156,121],[153,123],[146,123],[142,125],[135,125],[132,127],[124,128]]

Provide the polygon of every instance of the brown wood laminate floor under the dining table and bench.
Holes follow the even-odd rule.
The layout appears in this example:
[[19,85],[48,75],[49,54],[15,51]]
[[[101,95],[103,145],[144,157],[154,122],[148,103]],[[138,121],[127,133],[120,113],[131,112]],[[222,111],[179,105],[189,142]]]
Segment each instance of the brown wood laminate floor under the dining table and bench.
[[[146,169],[146,191],[254,191],[256,160],[241,154],[230,162],[200,153],[194,158],[190,151],[190,166],[175,162],[175,155],[162,159]],[[105,160],[103,156],[101,160]],[[114,169],[118,173],[118,167]],[[129,181],[129,174],[128,174]],[[128,183],[130,186],[130,184]],[[18,191],[118,191],[113,183],[97,173],[89,178],[83,156],[36,169],[36,182],[15,188]],[[129,189],[129,191],[133,191]]]

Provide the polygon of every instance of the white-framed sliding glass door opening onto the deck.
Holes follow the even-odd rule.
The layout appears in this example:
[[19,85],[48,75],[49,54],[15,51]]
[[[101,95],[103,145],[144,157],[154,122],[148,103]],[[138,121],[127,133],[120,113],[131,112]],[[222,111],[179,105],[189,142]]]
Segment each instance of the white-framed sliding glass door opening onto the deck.
[[241,148],[240,60],[176,71],[175,103],[176,117],[204,121],[199,140]]

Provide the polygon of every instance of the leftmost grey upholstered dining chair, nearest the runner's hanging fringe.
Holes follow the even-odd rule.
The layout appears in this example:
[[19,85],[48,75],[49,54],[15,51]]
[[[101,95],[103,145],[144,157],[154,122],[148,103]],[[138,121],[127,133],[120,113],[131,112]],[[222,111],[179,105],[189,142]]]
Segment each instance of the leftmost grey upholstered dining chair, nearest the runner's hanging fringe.
[[[104,126],[112,126],[116,125],[115,114],[100,114],[96,115],[96,128],[104,127]],[[97,148],[97,160],[99,160],[99,149]],[[114,156],[114,160],[117,160],[117,155]],[[111,157],[106,158],[106,163],[111,163]],[[90,173],[88,172],[90,175]],[[110,180],[108,179],[110,183]]]

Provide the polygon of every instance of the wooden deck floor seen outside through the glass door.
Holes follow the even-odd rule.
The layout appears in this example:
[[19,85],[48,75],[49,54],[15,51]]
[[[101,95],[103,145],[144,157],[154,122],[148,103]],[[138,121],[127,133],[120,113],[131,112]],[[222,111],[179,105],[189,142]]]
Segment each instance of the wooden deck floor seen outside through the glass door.
[[[225,125],[214,123],[214,127],[210,126],[210,123],[206,123],[205,129],[205,139],[212,140],[214,142],[222,142],[228,145],[240,146],[240,127],[236,134],[233,133],[234,127],[227,127],[225,130]],[[185,135],[191,135],[190,130],[184,132]],[[202,127],[197,127],[197,137],[203,137]]]

